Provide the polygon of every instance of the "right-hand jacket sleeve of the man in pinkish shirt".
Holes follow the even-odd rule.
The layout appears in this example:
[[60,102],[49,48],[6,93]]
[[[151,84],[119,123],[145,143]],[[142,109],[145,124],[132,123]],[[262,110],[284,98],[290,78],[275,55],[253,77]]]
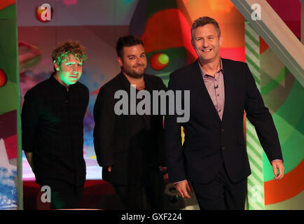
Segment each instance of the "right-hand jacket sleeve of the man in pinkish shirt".
[[272,116],[267,107],[265,107],[261,93],[256,87],[256,82],[246,64],[245,73],[247,76],[247,96],[245,111],[247,118],[256,129],[256,134],[261,142],[268,160],[283,160],[282,150],[279,144],[279,137]]

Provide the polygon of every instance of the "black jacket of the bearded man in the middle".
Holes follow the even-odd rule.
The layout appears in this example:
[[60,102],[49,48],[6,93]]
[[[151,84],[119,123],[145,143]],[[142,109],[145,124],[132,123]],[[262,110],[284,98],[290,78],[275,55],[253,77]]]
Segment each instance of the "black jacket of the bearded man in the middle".
[[[165,90],[163,80],[157,76],[144,74],[144,81],[149,92]],[[95,102],[95,153],[101,167],[112,166],[111,173],[102,170],[105,181],[133,185],[151,169],[165,165],[163,116],[117,116],[114,113],[114,105],[120,100],[114,99],[117,90],[128,93],[130,114],[130,83],[119,73],[100,88]]]

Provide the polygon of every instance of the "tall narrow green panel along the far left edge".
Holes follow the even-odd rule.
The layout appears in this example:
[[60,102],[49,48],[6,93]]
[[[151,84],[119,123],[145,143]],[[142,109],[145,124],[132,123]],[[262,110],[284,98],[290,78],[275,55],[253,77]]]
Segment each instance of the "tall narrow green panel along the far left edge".
[[[17,109],[17,200],[18,209],[23,209],[22,190],[22,150],[20,120],[20,88],[18,73],[18,35],[16,5],[0,10],[0,68],[4,70],[8,82],[0,87],[0,114]],[[1,127],[0,127],[1,128]]]

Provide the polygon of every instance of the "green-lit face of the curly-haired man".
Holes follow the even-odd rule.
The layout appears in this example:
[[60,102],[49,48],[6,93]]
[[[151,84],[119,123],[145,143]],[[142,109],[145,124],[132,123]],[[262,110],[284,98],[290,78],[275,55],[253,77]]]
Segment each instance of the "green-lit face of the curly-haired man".
[[60,66],[54,65],[58,71],[58,77],[67,86],[75,84],[83,73],[83,62],[72,54],[67,55]]

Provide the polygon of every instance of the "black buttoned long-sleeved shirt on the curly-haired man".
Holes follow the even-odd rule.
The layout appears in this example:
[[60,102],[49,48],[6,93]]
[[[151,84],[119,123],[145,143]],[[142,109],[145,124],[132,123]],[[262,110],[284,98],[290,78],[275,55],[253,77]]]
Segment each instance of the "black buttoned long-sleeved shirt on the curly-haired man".
[[61,180],[82,185],[83,118],[89,90],[77,82],[69,91],[54,76],[25,94],[22,148],[33,153],[36,182]]

